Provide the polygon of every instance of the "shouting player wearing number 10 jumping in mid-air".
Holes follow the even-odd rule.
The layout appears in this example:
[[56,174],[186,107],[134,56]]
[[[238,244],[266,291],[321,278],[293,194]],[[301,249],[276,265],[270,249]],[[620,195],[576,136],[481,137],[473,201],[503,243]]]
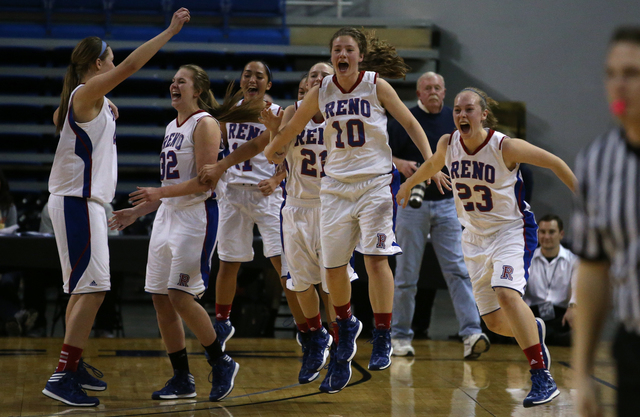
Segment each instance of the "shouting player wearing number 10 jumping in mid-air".
[[[407,67],[393,47],[372,37],[367,39],[353,28],[336,32],[330,47],[336,74],[306,94],[293,118],[267,146],[265,155],[280,162],[283,147],[295,140],[318,111],[323,113],[328,155],[320,191],[321,241],[327,286],[338,318],[336,360],[350,363],[362,330],[362,323],[351,315],[347,273],[351,253],[360,242],[376,322],[369,369],[380,370],[391,364],[392,352],[393,275],[387,256],[400,253],[393,228],[393,193],[399,176],[391,160],[385,109],[409,132],[424,156],[431,156],[431,150],[419,123],[389,83],[378,79],[376,72],[361,71],[377,69],[383,76],[403,77]],[[347,385],[351,376],[350,367],[347,369],[333,373],[332,391]]]

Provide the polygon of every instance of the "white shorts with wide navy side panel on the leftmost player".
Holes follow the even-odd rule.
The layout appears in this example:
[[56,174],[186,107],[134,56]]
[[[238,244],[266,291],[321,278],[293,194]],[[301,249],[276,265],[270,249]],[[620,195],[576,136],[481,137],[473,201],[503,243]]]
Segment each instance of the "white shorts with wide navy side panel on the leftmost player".
[[51,194],[49,215],[67,294],[109,291],[107,215],[101,202]]

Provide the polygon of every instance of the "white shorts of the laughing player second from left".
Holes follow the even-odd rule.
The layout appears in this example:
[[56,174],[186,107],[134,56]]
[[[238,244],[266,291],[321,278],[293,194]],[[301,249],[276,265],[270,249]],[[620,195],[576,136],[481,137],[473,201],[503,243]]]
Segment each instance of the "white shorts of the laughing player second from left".
[[213,198],[190,206],[161,204],[149,241],[145,291],[180,290],[200,298],[209,286],[217,232],[218,204]]

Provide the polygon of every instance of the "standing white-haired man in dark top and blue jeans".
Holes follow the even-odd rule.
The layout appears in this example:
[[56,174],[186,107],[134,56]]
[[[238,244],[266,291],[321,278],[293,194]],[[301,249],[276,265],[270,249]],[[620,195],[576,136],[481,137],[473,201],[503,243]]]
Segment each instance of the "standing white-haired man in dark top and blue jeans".
[[[436,149],[442,135],[456,130],[453,110],[444,105],[444,78],[434,72],[426,72],[418,79],[416,90],[418,105],[410,111],[427,134],[431,148]],[[388,131],[393,162],[402,175],[409,178],[424,159],[398,122],[389,122]],[[448,174],[446,168],[443,172]],[[453,193],[446,190],[441,192],[435,184],[431,184],[425,190],[419,208],[398,207],[396,234],[403,254],[396,256],[391,326],[393,354],[405,356],[415,353],[411,346],[414,335],[411,321],[422,255],[429,235],[460,324],[458,334],[464,341],[464,358],[475,359],[486,352],[489,339],[480,328],[480,315],[462,256],[462,227],[456,214]]]

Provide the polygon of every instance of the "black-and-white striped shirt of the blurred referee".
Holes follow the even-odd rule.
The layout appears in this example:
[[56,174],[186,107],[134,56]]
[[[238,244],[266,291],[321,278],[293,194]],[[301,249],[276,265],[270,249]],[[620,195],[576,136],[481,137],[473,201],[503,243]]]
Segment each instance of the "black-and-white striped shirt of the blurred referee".
[[573,251],[610,263],[616,318],[640,335],[640,149],[614,128],[580,152],[575,174]]

